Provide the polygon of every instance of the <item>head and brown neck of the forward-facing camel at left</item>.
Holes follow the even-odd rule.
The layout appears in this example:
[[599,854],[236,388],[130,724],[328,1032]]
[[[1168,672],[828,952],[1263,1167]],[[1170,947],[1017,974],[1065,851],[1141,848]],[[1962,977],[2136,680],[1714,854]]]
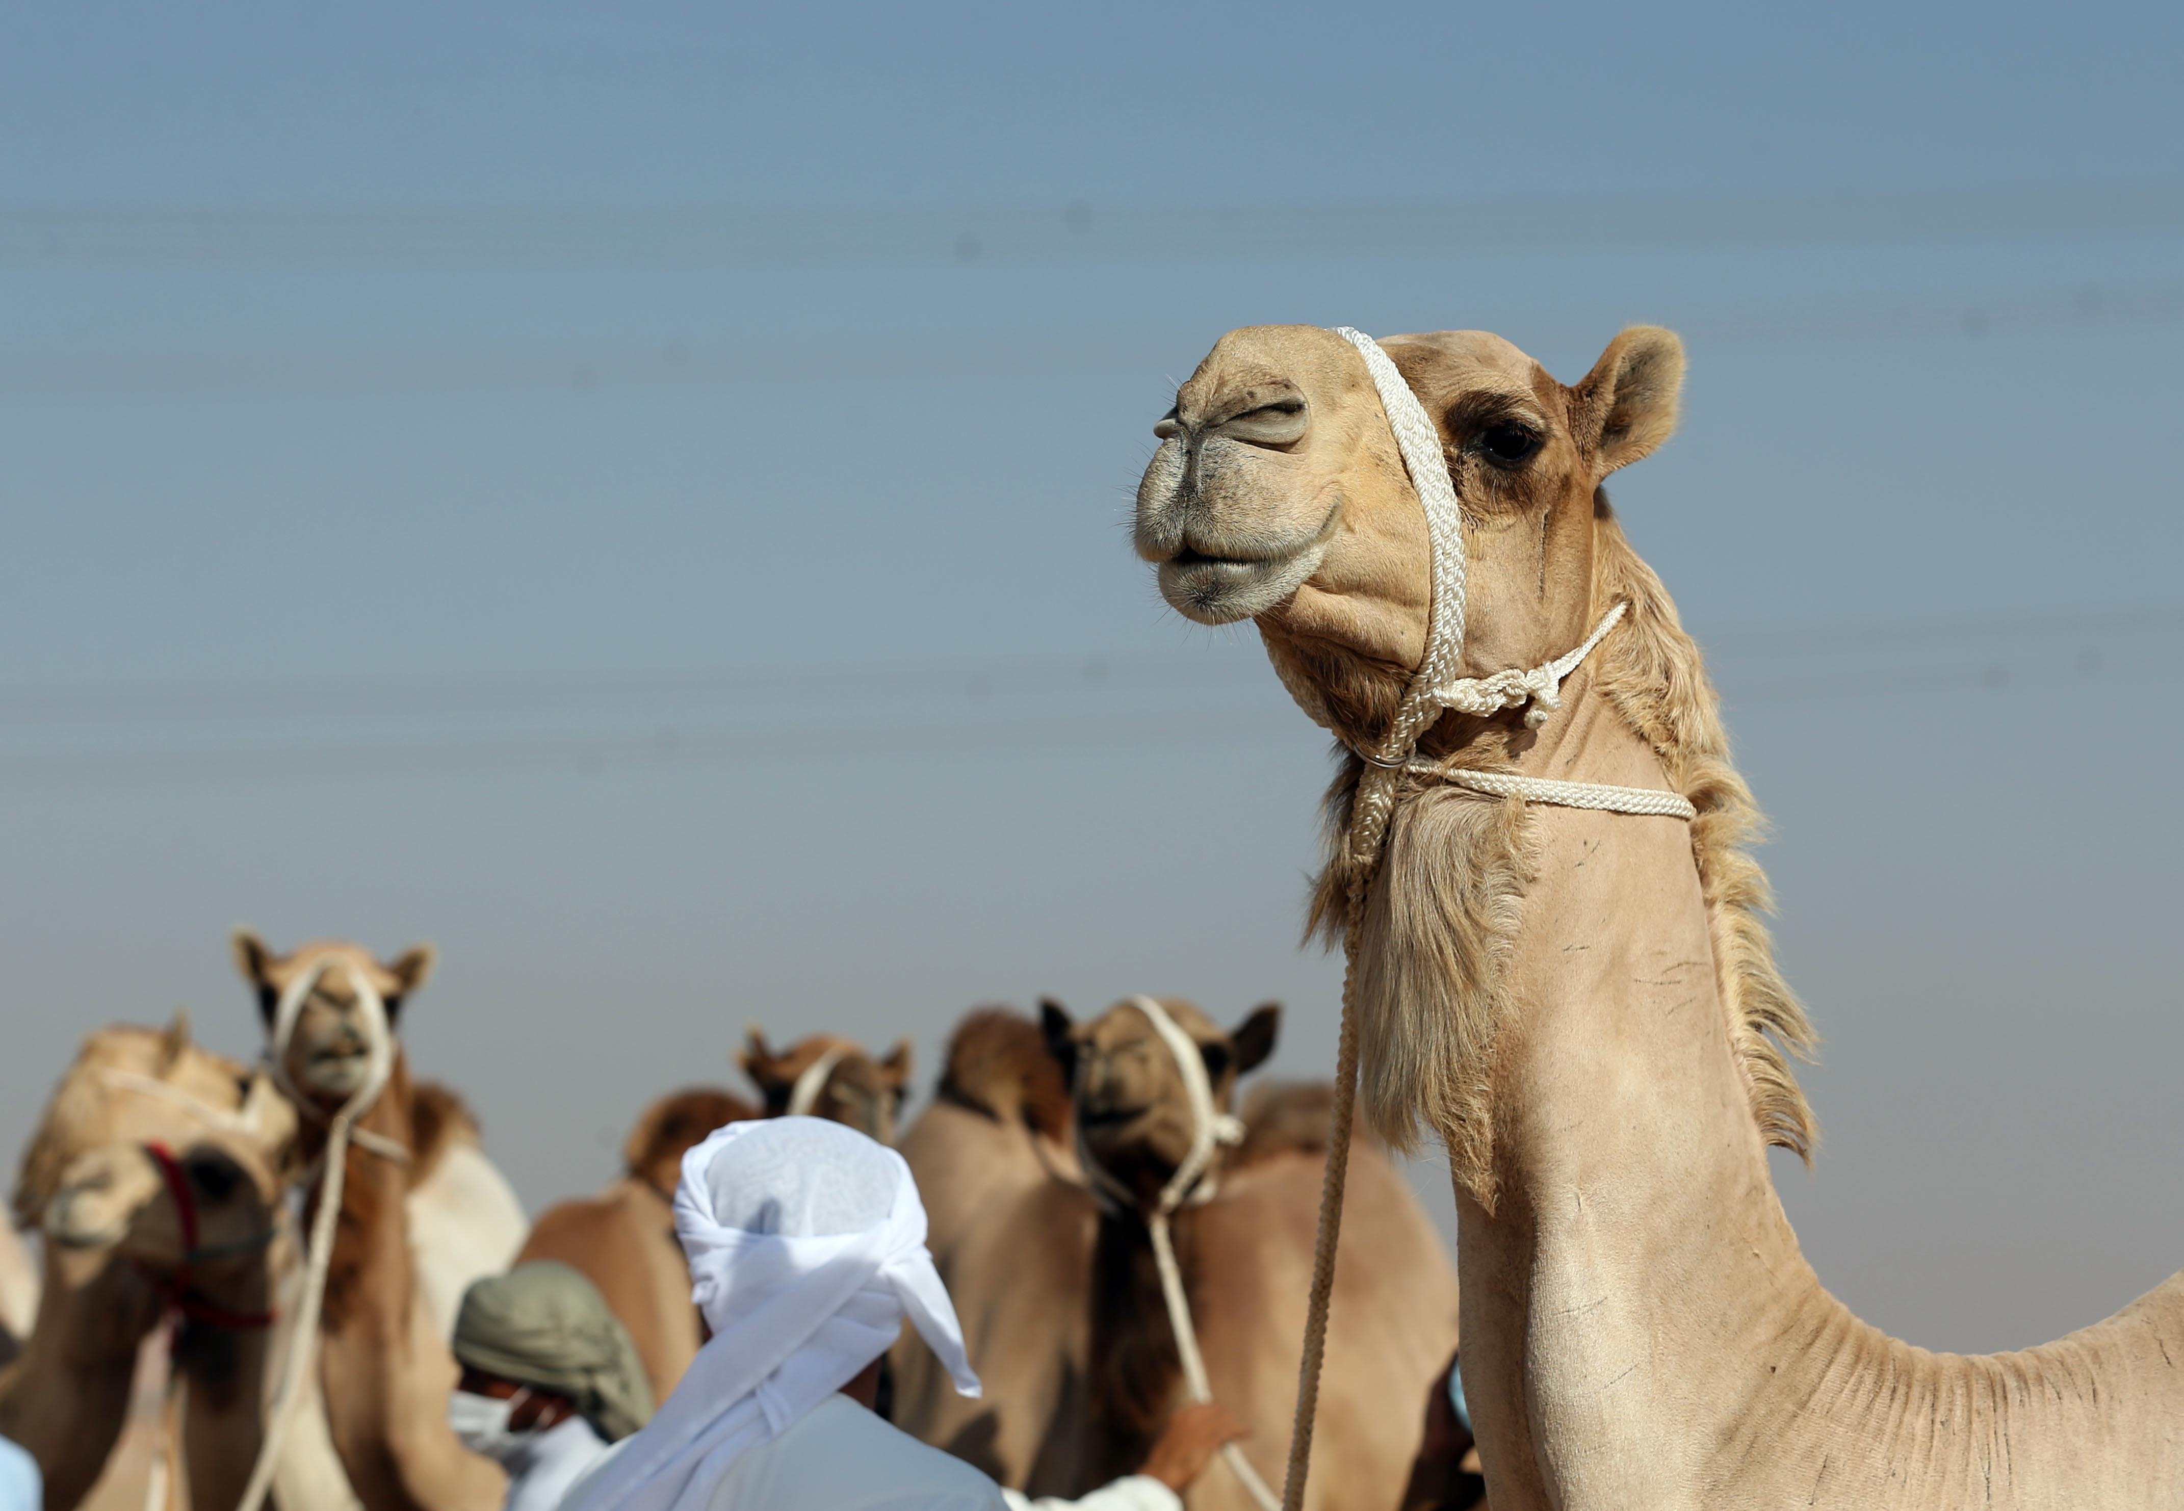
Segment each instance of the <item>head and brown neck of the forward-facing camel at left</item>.
[[[393,1024],[430,974],[432,952],[408,950],[382,965],[358,945],[310,943],[277,956],[256,935],[238,932],[236,963],[258,989],[269,1026],[282,991],[299,974],[325,965],[284,1061],[304,1094],[299,1146],[306,1162],[317,1159],[325,1151],[325,1120],[365,1081],[358,985],[371,985]],[[450,1118],[450,1105],[446,1094],[419,1096],[395,1046],[393,1074],[356,1127],[413,1151],[411,1162],[354,1142],[345,1159],[319,1319],[319,1389],[334,1450],[365,1511],[491,1511],[507,1494],[500,1465],[465,1450],[448,1426],[448,1395],[459,1371],[413,1247],[408,1199],[435,1155],[419,1138],[432,1129],[419,1125],[437,1122],[443,1131],[450,1120],[461,1125]],[[509,1242],[489,1271],[505,1269],[513,1249]]]

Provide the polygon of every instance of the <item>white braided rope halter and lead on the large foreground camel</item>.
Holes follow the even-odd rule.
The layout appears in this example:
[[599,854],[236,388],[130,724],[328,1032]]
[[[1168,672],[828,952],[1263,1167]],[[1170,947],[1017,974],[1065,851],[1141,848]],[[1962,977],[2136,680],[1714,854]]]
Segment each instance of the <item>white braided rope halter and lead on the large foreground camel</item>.
[[[1387,736],[1374,749],[1356,756],[1365,762],[1356,793],[1350,799],[1350,832],[1345,852],[1350,873],[1350,930],[1343,941],[1341,1048],[1334,1059],[1334,1111],[1328,1129],[1328,1175],[1319,1192],[1319,1238],[1313,1247],[1313,1293],[1304,1314],[1304,1358],[1297,1367],[1297,1421],[1289,1439],[1289,1474],[1282,1485],[1282,1511],[1304,1509],[1304,1478],[1313,1463],[1313,1421],[1319,1408],[1319,1365],[1328,1345],[1328,1299],[1334,1293],[1334,1247],[1343,1225],[1343,1188],[1350,1177],[1350,1131],[1356,1120],[1358,1039],[1356,1039],[1356,967],[1365,930],[1365,891],[1380,865],[1387,825],[1396,812],[1402,777],[1450,782],[1492,797],[1522,797],[1559,808],[1592,808],[1599,812],[1653,814],[1695,819],[1697,808],[1682,793],[1601,782],[1551,782],[1514,771],[1468,771],[1441,762],[1417,760],[1417,740],[1448,710],[1463,714],[1496,714],[1505,707],[1531,707],[1524,725],[1538,729],[1562,707],[1562,681],[1579,668],[1601,640],[1623,620],[1627,605],[1607,609],[1594,631],[1575,651],[1531,670],[1505,670],[1492,677],[1457,677],[1463,664],[1463,520],[1457,509],[1457,487],[1441,459],[1441,435],[1426,408],[1402,380],[1380,343],[1361,330],[1339,325],[1337,334],[1365,358],[1365,371],[1380,393],[1396,450],[1411,474],[1411,487],[1426,513],[1426,539],[1433,552],[1433,600],[1426,611],[1426,653],[1411,673],[1411,686],[1396,707]],[[1284,681],[1289,681],[1284,677]],[[1297,688],[1291,688],[1297,692]],[[1326,712],[1317,697],[1297,703],[1319,723]]]

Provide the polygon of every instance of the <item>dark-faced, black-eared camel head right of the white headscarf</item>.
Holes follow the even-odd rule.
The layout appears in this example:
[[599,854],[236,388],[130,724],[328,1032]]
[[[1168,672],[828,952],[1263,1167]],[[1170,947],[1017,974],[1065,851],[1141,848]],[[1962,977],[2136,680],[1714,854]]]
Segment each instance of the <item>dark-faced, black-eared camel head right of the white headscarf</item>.
[[[1251,1009],[1230,1033],[1192,1002],[1160,998],[1160,1004],[1197,1042],[1214,1107],[1230,1111],[1236,1079],[1273,1055],[1280,1004]],[[1079,1024],[1059,1002],[1046,1000],[1040,1002],[1040,1024],[1070,1085],[1083,1146],[1151,1205],[1190,1153],[1190,1094],[1175,1055],[1133,1002],[1116,1002]]]

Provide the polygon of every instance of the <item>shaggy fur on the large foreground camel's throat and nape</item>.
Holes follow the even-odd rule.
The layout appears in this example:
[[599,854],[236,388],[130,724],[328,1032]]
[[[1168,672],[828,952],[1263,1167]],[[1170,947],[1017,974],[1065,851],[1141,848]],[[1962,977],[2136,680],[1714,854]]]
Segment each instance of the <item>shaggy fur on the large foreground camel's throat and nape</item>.
[[[1813,1114],[1784,1050],[1808,1052],[1813,1028],[1773,963],[1760,913],[1767,876],[1745,845],[1760,832],[1749,788],[1730,764],[1719,699],[1697,644],[1653,570],[1623,539],[1594,498],[1597,576],[1590,618],[1629,603],[1623,624],[1579,670],[1570,690],[1594,688],[1636,729],[1669,777],[1699,810],[1690,852],[1714,935],[1721,1004],[1730,1015],[1752,1116],[1771,1144],[1811,1155]],[[1267,633],[1269,653],[1326,688],[1345,745],[1382,729],[1406,673]],[[1568,718],[1562,721],[1568,725]],[[1553,727],[1546,731],[1553,738]],[[1514,716],[1448,714],[1420,753],[1463,766],[1540,771],[1531,731]],[[1350,928],[1352,865],[1343,834],[1363,762],[1348,756],[1328,790],[1328,862],[1313,897],[1310,932],[1339,943]],[[1457,1183],[1487,1212],[1496,1205],[1494,1046],[1511,1015],[1503,980],[1509,941],[1535,856],[1527,810],[1472,793],[1413,782],[1398,799],[1374,876],[1356,965],[1363,1081],[1361,1107],[1396,1149],[1415,1149],[1420,1127],[1448,1144]]]

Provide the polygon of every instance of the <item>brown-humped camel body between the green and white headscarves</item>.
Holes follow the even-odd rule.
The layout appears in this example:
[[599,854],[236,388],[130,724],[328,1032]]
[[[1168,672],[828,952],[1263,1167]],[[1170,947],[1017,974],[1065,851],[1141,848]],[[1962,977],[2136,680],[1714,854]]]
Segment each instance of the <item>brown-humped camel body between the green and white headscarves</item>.
[[729,1122],[758,1118],[751,1103],[716,1087],[690,1087],[653,1103],[622,1144],[625,1170],[596,1197],[539,1214],[518,1264],[574,1264],[629,1330],[653,1400],[664,1402],[705,1343],[690,1301],[690,1266],[675,1238],[675,1183],[684,1153]]

